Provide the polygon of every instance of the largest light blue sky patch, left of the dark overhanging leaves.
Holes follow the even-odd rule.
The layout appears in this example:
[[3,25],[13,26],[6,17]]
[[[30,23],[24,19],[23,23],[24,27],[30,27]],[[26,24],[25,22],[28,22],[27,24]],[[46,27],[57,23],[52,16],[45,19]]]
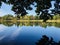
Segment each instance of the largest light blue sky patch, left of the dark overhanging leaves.
[[7,5],[7,4],[2,3],[2,6],[0,8],[0,16],[4,16],[6,14],[14,15],[14,12],[11,11],[11,7],[12,7],[12,5]]

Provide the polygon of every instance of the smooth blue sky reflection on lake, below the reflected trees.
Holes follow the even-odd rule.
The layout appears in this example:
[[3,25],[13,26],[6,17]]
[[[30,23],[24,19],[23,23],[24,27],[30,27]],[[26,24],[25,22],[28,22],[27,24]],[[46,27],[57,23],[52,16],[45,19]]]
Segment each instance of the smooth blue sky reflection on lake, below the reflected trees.
[[52,37],[54,41],[60,41],[60,28],[54,26],[19,26],[11,27],[0,24],[0,43],[17,42],[21,45],[35,45],[42,35]]

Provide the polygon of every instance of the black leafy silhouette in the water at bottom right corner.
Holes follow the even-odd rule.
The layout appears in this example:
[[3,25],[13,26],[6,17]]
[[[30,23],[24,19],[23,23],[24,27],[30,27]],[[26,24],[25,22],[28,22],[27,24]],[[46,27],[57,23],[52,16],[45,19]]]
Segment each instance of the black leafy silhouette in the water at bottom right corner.
[[36,42],[36,45],[60,45],[60,41],[55,42],[52,37],[49,38],[46,35],[43,35],[42,38]]

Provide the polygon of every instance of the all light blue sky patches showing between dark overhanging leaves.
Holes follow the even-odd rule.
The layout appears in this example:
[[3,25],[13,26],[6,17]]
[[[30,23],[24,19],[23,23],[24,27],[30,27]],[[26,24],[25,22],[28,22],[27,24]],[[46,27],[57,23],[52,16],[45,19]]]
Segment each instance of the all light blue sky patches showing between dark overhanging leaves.
[[[54,9],[54,3],[55,3],[54,1],[51,2],[52,7],[50,9]],[[34,6],[32,7],[33,7],[33,10],[31,11],[27,10],[28,15],[36,15],[34,11],[36,8]],[[12,8],[12,5],[7,5],[5,3],[2,3],[2,6],[0,8],[0,16],[4,16],[6,14],[12,14],[13,16],[15,16],[15,13],[11,10],[11,8]]]

